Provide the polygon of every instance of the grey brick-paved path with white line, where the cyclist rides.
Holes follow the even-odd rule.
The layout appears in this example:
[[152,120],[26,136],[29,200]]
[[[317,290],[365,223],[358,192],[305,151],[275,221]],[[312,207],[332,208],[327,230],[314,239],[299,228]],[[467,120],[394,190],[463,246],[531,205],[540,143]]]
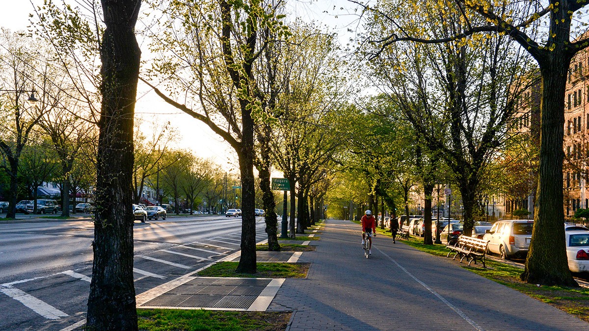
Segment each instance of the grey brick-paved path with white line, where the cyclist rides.
[[[307,279],[287,279],[268,310],[294,310],[290,330],[589,330],[589,324],[390,237],[372,256],[360,226],[328,220]],[[370,297],[370,301],[366,300]]]

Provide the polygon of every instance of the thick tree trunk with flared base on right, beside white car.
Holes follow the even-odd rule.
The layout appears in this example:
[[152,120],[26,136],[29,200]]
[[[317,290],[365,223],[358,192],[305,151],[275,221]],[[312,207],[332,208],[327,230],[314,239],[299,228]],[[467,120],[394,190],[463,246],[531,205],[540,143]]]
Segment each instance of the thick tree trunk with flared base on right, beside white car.
[[[564,11],[564,9],[562,10]],[[568,14],[562,13],[565,16]],[[559,24],[565,29],[568,24]],[[568,39],[567,39],[568,41]],[[521,279],[532,284],[578,286],[568,269],[562,208],[562,138],[564,102],[570,58],[555,48],[550,63],[540,63],[542,75],[540,176],[530,251]]]

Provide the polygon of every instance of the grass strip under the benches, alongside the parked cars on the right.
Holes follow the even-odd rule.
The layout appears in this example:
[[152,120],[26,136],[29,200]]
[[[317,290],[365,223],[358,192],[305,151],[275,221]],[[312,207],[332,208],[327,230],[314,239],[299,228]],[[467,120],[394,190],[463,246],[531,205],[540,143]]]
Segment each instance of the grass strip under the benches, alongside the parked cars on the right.
[[[383,232],[383,234],[386,234]],[[386,234],[390,236],[391,234]],[[448,249],[443,244],[424,245],[423,239],[410,237],[409,240],[401,240],[403,243],[418,250],[435,256],[444,256],[448,254]],[[458,263],[458,262],[456,262]],[[541,302],[550,304],[564,312],[577,316],[579,319],[589,322],[589,289],[585,287],[570,288],[560,286],[538,286],[528,284],[519,279],[523,269],[511,264],[497,262],[493,260],[486,261],[487,268],[482,264],[471,267],[460,264],[464,269],[477,273],[487,279],[493,280],[499,284],[505,285],[511,289],[517,290]]]

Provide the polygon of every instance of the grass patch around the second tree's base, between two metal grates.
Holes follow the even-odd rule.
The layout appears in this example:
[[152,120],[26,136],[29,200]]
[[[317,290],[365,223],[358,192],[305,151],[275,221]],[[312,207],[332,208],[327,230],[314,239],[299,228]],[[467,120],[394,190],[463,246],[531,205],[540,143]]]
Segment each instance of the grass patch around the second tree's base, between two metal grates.
[[203,277],[305,278],[309,263],[256,263],[256,273],[236,273],[238,262],[220,262],[198,273]]

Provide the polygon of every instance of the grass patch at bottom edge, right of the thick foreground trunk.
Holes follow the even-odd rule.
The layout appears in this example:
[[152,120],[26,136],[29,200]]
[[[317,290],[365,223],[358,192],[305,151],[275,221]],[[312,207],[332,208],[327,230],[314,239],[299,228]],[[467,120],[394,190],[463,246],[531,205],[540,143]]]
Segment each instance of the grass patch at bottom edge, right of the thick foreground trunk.
[[223,312],[215,310],[138,309],[142,331],[286,329],[291,312]]

